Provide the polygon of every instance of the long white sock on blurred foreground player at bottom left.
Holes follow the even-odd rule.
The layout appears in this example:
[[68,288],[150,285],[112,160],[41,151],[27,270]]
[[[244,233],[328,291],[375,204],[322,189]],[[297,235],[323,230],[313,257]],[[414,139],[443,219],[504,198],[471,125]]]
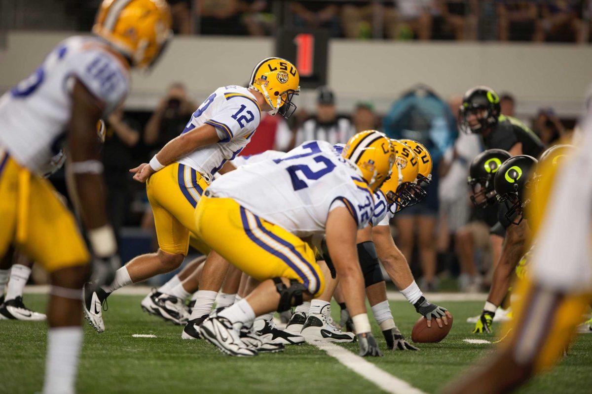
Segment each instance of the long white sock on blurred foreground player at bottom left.
[[53,327],[47,333],[44,394],[74,394],[82,327]]

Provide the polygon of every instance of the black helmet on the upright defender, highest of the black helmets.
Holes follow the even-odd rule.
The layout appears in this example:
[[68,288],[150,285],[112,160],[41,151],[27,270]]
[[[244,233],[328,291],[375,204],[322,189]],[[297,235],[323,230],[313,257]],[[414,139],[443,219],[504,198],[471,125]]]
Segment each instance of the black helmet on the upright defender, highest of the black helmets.
[[[469,124],[469,115],[477,116],[477,123]],[[467,134],[482,133],[497,125],[500,117],[500,96],[487,86],[467,90],[459,108],[459,129]]]

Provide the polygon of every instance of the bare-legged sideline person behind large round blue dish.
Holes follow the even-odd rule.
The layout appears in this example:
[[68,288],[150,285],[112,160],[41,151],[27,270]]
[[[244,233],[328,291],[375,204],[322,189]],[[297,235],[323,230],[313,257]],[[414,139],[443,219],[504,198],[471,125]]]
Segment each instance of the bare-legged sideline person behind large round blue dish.
[[437,288],[438,165],[444,152],[455,141],[455,118],[445,101],[429,87],[418,85],[393,103],[383,122],[388,136],[421,142],[432,155],[432,183],[426,187],[427,197],[395,216],[397,245],[409,262],[414,261],[412,253],[417,232],[417,250],[423,271],[421,284],[424,290],[431,291]]

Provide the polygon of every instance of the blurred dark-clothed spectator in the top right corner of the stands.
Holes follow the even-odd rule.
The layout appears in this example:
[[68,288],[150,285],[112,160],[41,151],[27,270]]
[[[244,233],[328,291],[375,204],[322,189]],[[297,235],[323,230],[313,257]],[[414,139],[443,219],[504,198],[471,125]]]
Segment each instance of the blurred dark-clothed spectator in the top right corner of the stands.
[[581,18],[581,1],[551,1],[540,6],[541,18],[535,41],[577,42],[587,40],[587,25]]

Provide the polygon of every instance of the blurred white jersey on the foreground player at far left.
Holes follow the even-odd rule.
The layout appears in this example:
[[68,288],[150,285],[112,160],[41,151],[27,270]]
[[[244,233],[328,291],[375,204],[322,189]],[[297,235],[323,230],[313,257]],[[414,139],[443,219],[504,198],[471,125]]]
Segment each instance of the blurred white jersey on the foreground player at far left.
[[37,174],[48,170],[66,140],[72,77],[105,102],[105,115],[123,102],[130,83],[127,66],[101,40],[70,37],[0,98],[0,146]]

